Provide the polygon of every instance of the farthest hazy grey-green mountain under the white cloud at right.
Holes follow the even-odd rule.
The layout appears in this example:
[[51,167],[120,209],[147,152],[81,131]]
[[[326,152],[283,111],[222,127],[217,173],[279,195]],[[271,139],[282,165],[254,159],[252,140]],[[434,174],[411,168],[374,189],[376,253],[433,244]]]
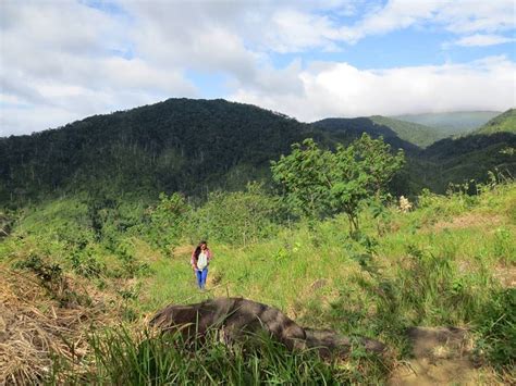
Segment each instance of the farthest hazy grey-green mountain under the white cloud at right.
[[442,137],[470,133],[499,115],[499,111],[455,111],[395,115],[394,119],[438,128]]

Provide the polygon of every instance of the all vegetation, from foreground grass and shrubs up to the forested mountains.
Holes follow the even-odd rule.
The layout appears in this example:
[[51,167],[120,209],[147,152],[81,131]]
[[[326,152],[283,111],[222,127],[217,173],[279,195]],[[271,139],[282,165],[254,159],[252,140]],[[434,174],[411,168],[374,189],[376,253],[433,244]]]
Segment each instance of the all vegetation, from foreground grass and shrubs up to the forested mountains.
[[[511,383],[515,138],[400,151],[358,129],[170,100],[0,139],[0,377],[378,384],[410,361],[408,328],[456,326],[475,381]],[[207,292],[189,266],[200,238],[214,251]],[[218,296],[389,350],[321,359],[269,337],[189,346],[147,328],[168,303]]]

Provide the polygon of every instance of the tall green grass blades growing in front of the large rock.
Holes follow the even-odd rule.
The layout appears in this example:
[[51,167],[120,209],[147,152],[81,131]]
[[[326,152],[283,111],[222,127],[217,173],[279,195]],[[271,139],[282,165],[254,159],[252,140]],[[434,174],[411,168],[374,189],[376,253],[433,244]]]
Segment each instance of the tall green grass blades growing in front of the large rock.
[[267,335],[228,346],[214,331],[187,343],[180,334],[133,336],[120,328],[91,336],[91,346],[97,370],[89,382],[98,384],[343,385],[380,382],[388,370],[372,356],[355,356],[352,368],[311,350],[292,352]]

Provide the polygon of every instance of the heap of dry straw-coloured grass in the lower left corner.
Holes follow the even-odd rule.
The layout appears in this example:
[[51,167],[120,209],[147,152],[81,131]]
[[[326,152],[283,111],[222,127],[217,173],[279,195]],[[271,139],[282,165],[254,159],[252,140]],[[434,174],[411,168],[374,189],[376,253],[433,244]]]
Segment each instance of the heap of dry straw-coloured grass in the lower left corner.
[[87,333],[94,323],[114,322],[115,312],[98,299],[88,306],[52,299],[29,274],[0,267],[0,384],[40,383],[51,374],[53,357],[76,374],[87,371]]

